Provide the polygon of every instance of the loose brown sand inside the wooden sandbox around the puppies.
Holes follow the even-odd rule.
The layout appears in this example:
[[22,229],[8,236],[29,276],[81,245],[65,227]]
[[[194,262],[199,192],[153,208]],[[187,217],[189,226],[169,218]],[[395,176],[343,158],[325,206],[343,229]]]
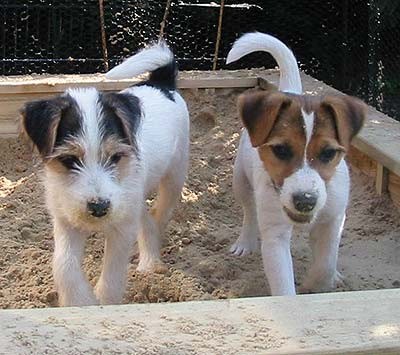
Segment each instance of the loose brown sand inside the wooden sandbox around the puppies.
[[[237,92],[185,91],[191,111],[189,178],[169,224],[162,249],[167,270],[140,274],[129,268],[125,301],[163,302],[268,294],[261,255],[243,258],[228,249],[241,226],[231,190],[240,122]],[[51,276],[51,219],[44,208],[40,162],[17,139],[0,140],[0,308],[57,305]],[[400,214],[371,181],[352,172],[352,199],[340,246],[340,290],[400,287]],[[293,238],[296,279],[310,262],[304,235]],[[85,269],[95,283],[103,240],[87,245]]]

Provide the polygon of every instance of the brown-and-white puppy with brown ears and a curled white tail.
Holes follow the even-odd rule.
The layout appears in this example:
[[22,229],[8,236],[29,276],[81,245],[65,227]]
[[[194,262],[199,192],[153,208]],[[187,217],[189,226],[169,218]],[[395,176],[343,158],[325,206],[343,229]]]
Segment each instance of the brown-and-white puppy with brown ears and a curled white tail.
[[246,129],[235,161],[233,188],[244,219],[231,252],[249,253],[260,238],[272,295],[294,295],[290,240],[293,227],[305,227],[313,263],[302,290],[328,290],[340,280],[337,257],[350,186],[343,158],[363,125],[366,105],[346,95],[303,95],[293,53],[266,34],[239,38],[227,62],[254,51],[275,58],[280,83],[279,91],[239,98]]

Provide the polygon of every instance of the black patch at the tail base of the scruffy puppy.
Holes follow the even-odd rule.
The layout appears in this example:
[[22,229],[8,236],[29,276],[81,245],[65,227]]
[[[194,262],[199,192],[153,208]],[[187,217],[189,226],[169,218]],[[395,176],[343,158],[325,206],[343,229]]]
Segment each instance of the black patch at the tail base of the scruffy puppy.
[[173,59],[168,64],[152,71],[149,78],[139,84],[133,86],[151,86],[160,90],[167,99],[174,101],[171,91],[176,91],[176,77],[178,75],[178,65]]

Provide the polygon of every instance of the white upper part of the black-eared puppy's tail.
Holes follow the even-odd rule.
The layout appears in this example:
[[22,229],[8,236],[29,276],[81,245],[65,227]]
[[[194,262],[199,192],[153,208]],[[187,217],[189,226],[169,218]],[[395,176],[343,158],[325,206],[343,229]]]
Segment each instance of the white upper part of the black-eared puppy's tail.
[[174,55],[164,42],[144,48],[106,73],[107,79],[129,79],[174,62]]

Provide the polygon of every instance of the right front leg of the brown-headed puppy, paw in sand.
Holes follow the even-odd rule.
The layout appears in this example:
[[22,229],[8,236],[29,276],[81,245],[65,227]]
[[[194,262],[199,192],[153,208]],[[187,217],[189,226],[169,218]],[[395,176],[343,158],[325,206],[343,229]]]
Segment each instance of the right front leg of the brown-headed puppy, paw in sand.
[[342,282],[337,271],[339,243],[345,215],[316,224],[310,233],[313,263],[300,288],[301,292],[329,291]]

